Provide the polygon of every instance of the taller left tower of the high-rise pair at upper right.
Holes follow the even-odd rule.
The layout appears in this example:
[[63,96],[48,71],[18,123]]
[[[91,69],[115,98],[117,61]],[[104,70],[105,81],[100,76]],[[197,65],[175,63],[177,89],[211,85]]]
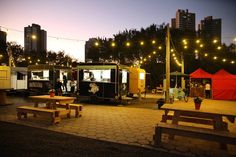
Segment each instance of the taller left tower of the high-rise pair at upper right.
[[171,25],[172,28],[195,31],[195,13],[178,9],[176,17],[171,19]]

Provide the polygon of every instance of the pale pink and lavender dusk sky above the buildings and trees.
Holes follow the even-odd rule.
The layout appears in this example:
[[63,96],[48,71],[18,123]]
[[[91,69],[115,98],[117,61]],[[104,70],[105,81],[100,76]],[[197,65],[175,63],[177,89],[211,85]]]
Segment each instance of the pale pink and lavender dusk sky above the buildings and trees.
[[0,0],[0,26],[8,28],[7,41],[24,46],[24,27],[39,24],[47,31],[48,50],[83,61],[89,38],[170,23],[178,9],[195,13],[196,25],[206,16],[221,18],[227,45],[236,37],[235,0]]

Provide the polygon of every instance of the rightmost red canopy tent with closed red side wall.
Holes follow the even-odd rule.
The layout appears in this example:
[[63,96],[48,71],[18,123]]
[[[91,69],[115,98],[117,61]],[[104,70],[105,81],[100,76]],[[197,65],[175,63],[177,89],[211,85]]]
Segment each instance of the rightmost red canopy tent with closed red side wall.
[[213,99],[236,100],[236,75],[221,69],[212,75]]

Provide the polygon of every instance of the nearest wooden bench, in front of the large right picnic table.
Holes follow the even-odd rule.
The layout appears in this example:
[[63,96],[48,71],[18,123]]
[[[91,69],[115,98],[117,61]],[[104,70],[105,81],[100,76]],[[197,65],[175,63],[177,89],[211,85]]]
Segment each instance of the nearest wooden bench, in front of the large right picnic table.
[[206,128],[198,128],[192,126],[183,126],[167,123],[159,123],[155,128],[155,134],[153,135],[154,144],[161,144],[161,136],[163,133],[169,135],[179,135],[184,137],[192,137],[210,141],[219,142],[222,149],[227,149],[226,144],[236,145],[236,134],[232,134],[228,131],[216,131]]

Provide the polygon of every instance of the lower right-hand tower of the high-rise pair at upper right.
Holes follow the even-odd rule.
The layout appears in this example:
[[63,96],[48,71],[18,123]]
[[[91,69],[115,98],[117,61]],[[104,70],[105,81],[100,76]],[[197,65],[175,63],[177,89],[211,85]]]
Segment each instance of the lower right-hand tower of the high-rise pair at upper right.
[[217,39],[221,43],[221,19],[213,19],[212,16],[205,17],[198,25],[198,32],[200,38]]

